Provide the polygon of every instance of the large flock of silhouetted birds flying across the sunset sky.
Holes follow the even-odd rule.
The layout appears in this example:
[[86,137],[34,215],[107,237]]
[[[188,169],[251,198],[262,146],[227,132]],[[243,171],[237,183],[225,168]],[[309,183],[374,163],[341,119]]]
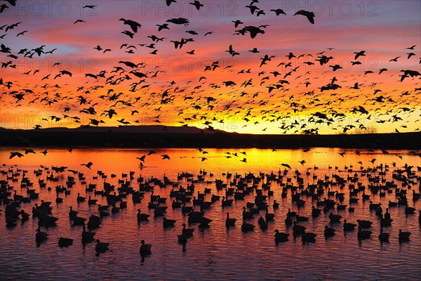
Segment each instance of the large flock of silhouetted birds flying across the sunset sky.
[[[175,2],[166,1],[166,5],[171,6]],[[1,13],[7,14],[16,1],[1,3]],[[199,11],[203,8],[200,1],[190,4]],[[83,6],[87,10],[95,8],[98,7]],[[266,12],[259,7],[259,1],[255,0],[245,8],[250,10],[252,16],[263,19],[270,15],[279,20],[289,16],[276,7]],[[309,25],[315,24],[315,15],[311,11],[301,10],[294,15],[306,17]],[[2,20],[2,23],[0,37],[5,42],[8,37],[26,37],[31,33],[25,22],[6,23]],[[19,70],[13,77],[0,79],[2,107],[11,112],[19,110],[19,107],[34,107],[47,112],[48,116],[39,124],[34,124],[34,129],[41,129],[46,123],[48,126],[145,124],[145,120],[138,118],[145,116],[147,124],[161,124],[166,115],[176,116],[175,124],[172,125],[191,126],[197,123],[210,130],[216,127],[229,128],[227,122],[236,122],[243,127],[259,125],[265,127],[262,131],[266,131],[269,126],[273,129],[273,124],[276,124],[276,132],[280,133],[319,133],[321,125],[340,132],[353,129],[363,131],[368,126],[385,123],[393,124],[395,132],[420,129],[420,124],[415,123],[414,128],[408,125],[413,122],[414,116],[419,115],[416,106],[421,91],[420,72],[403,69],[399,73],[392,71],[392,74],[388,74],[388,68],[394,69],[403,60],[406,64],[410,62],[418,65],[416,45],[406,49],[403,47],[401,55],[391,58],[389,62],[382,62],[386,67],[379,70],[363,60],[370,55],[368,52],[350,53],[352,58],[349,67],[361,67],[361,72],[353,70],[352,74],[342,76],[339,73],[347,66],[338,63],[338,58],[333,57],[335,48],[313,54],[293,51],[264,54],[260,53],[260,46],[243,50],[241,44],[233,43],[226,47],[226,51],[220,51],[220,55],[227,58],[226,61],[210,60],[203,69],[193,69],[189,75],[191,79],[184,81],[174,77],[171,70],[162,70],[140,61],[139,55],[159,55],[159,47],[168,48],[167,44],[170,44],[180,56],[197,56],[200,51],[194,48],[196,42],[218,37],[217,32],[208,31],[202,36],[190,28],[192,22],[188,18],[181,17],[157,24],[157,33],[147,36],[142,34],[145,26],[134,19],[116,18],[118,24],[123,29],[121,36],[125,41],[119,45],[119,50],[98,44],[90,48],[98,51],[98,58],[119,52],[121,59],[115,61],[112,69],[105,68],[96,72],[76,73],[63,68],[60,62],[55,62],[51,72],[26,69],[20,76],[19,60],[51,58],[60,47],[42,45],[12,49],[2,43],[2,71],[16,73],[15,70]],[[21,30],[23,25],[27,25],[28,30]],[[88,18],[69,22],[68,28],[79,28],[76,27],[79,25],[88,29]],[[266,30],[270,28],[271,25],[254,26],[247,24],[246,20],[232,20],[233,38],[244,36],[244,40],[255,42],[256,45],[260,42],[258,38],[265,37]],[[185,31],[186,36],[167,39],[173,30]],[[162,36],[157,35],[161,33]],[[139,41],[145,40],[149,43],[139,44]],[[144,50],[150,52],[145,53]],[[131,55],[135,59],[131,59]],[[254,66],[237,70],[237,67],[241,67],[240,58],[244,55],[246,60],[255,62]],[[235,58],[236,63],[227,63],[230,58]],[[313,68],[316,69],[316,66],[324,67],[318,77],[314,77]],[[218,77],[221,71],[226,74],[225,79]],[[376,76],[394,81],[395,89],[382,87],[383,82],[377,81],[379,78]],[[39,78],[36,83],[24,82],[26,78],[34,77]],[[166,80],[168,77],[172,79]],[[409,90],[401,90],[404,87]],[[308,118],[300,119],[295,115],[307,115]],[[228,120],[226,116],[229,116]],[[349,116],[356,120],[344,122]],[[420,121],[419,118],[415,119],[415,122]]]

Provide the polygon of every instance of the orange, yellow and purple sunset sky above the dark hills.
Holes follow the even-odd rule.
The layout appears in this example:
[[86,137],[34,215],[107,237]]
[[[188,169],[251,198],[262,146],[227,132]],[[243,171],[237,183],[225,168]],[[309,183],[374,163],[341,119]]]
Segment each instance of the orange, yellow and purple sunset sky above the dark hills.
[[420,1],[192,2],[0,1],[0,126],[420,130]]

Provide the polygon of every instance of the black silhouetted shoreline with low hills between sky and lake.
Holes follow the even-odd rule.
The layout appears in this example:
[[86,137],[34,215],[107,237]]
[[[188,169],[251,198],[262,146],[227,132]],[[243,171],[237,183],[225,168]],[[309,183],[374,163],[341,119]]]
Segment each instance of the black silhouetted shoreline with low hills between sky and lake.
[[[121,129],[123,128],[123,129]],[[145,129],[146,128],[146,129]],[[0,147],[421,149],[421,133],[253,135],[163,126],[112,129],[0,129]]]

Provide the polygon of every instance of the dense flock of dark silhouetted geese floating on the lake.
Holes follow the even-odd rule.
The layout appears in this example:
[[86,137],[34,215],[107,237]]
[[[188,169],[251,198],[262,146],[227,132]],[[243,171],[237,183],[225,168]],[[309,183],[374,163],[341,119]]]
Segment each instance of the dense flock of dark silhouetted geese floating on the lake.
[[[308,151],[308,150],[307,150]],[[25,153],[34,153],[34,150],[25,150]],[[69,150],[69,152],[72,152]],[[201,151],[203,152],[203,150]],[[18,152],[11,152],[17,154]],[[138,157],[141,162],[145,162],[145,157],[153,155],[156,152],[150,151],[147,155]],[[246,155],[246,152],[243,152]],[[342,154],[341,154],[342,153]],[[341,156],[345,152],[341,152]],[[359,155],[356,151],[356,155]],[[389,153],[386,150],[383,153]],[[413,152],[414,154],[417,152]],[[234,153],[229,153],[233,155]],[[161,155],[163,159],[170,159],[168,155]],[[400,155],[397,155],[401,158]],[[418,155],[421,157],[421,155]],[[183,221],[190,225],[198,225],[199,229],[206,229],[212,226],[212,219],[205,215],[209,209],[221,208],[226,213],[225,227],[227,229],[236,226],[239,218],[229,216],[233,212],[232,208],[241,207],[243,209],[241,217],[241,231],[247,233],[255,230],[256,226],[250,223],[253,218],[258,218],[258,226],[266,231],[268,227],[275,223],[285,223],[286,229],[290,230],[294,239],[301,237],[303,243],[316,242],[316,234],[307,230],[305,223],[309,220],[317,221],[319,216],[329,218],[330,224],[324,227],[323,234],[326,238],[333,237],[341,228],[344,233],[353,233],[356,230],[356,237],[361,242],[371,237],[374,226],[373,221],[366,219],[354,219],[356,208],[370,210],[370,216],[378,220],[380,232],[378,239],[380,242],[389,242],[390,233],[385,232],[392,226],[392,218],[389,210],[402,208],[403,212],[394,212],[394,216],[406,216],[403,220],[410,220],[415,214],[415,202],[420,199],[421,192],[421,167],[404,164],[399,167],[396,163],[377,164],[376,159],[370,161],[373,166],[363,166],[360,169],[354,169],[351,166],[345,166],[344,170],[328,167],[333,171],[331,176],[316,175],[318,167],[307,167],[305,174],[298,169],[291,169],[289,164],[281,164],[283,170],[275,174],[259,172],[254,175],[250,172],[241,174],[222,173],[223,179],[215,178],[212,173],[200,170],[199,174],[194,176],[187,172],[178,174],[177,181],[171,181],[168,177],[143,178],[140,174],[135,175],[135,171],[122,173],[118,180],[118,185],[113,185],[118,176],[116,174],[107,175],[103,171],[97,170],[92,179],[87,178],[83,170],[68,169],[67,166],[42,166],[34,171],[25,171],[16,166],[6,168],[3,164],[0,180],[0,203],[4,205],[4,214],[6,217],[6,227],[14,228],[18,221],[25,223],[30,216],[38,219],[38,228],[36,229],[35,240],[41,244],[48,240],[48,232],[41,228],[51,228],[57,226],[58,217],[53,216],[55,210],[54,204],[68,202],[70,205],[69,221],[73,226],[81,226],[81,239],[83,244],[96,241],[95,251],[99,253],[109,249],[109,243],[101,242],[95,239],[95,229],[107,223],[107,216],[115,214],[124,215],[123,209],[128,208],[128,200],[133,202],[131,209],[138,209],[138,224],[147,227],[147,221],[152,214],[155,217],[162,217],[164,229],[173,228],[175,223],[180,224],[182,229],[178,235],[178,242],[186,245],[189,238],[193,236],[194,228],[186,228],[185,222],[180,223],[167,217],[167,209],[171,204],[174,211],[180,210]],[[305,161],[300,162],[304,165]],[[93,162],[81,164],[83,169],[93,169]],[[36,181],[29,179],[29,174],[34,174]],[[340,176],[342,173],[342,176]],[[92,174],[91,174],[92,175]],[[60,179],[61,178],[61,179]],[[111,178],[109,181],[107,178]],[[114,180],[113,180],[114,178]],[[96,183],[92,183],[95,182]],[[18,183],[18,187],[15,186]],[[59,183],[59,185],[57,185]],[[187,185],[185,185],[187,184]],[[55,188],[51,186],[56,185]],[[102,185],[102,188],[101,188]],[[185,185],[185,188],[182,187]],[[83,186],[86,196],[83,197]],[[418,192],[416,192],[416,187]],[[72,192],[77,190],[77,195]],[[154,193],[159,188],[159,194]],[[168,189],[171,190],[168,192]],[[20,194],[18,194],[20,190]],[[42,190],[48,193],[55,192],[55,203],[41,200]],[[47,193],[47,195],[48,195]],[[45,195],[45,193],[44,193]],[[64,197],[62,197],[64,195]],[[164,197],[168,195],[168,198]],[[385,203],[385,197],[389,202]],[[396,200],[392,201],[392,197]],[[101,199],[100,199],[101,198]],[[149,201],[148,201],[149,200]],[[272,202],[272,206],[268,201]],[[288,200],[292,202],[292,207],[298,211],[291,211],[286,207]],[[346,201],[345,201],[346,200]],[[100,202],[106,201],[107,204]],[[146,202],[145,202],[146,201]],[[377,201],[377,203],[374,203]],[[410,207],[410,201],[414,207]],[[235,202],[235,204],[234,204]],[[348,202],[348,203],[344,203]],[[369,202],[367,205],[364,202]],[[382,204],[383,202],[383,204]],[[27,205],[32,205],[32,214],[29,214]],[[91,216],[88,218],[78,215],[77,209],[72,205],[88,204]],[[305,211],[300,211],[311,204],[311,217],[304,216]],[[382,207],[387,204],[386,209]],[[98,206],[98,208],[97,208]],[[140,207],[149,209],[149,212],[142,213]],[[95,207],[95,208],[93,208]],[[98,211],[96,211],[98,209]],[[273,213],[269,212],[272,209]],[[1,211],[1,210],[0,210]],[[354,222],[343,219],[345,211],[349,212],[349,218]],[[421,210],[418,221],[421,226]],[[262,214],[264,213],[264,214]],[[285,216],[282,216],[284,214]],[[309,211],[307,209],[307,214]],[[359,212],[361,214],[361,212]],[[60,218],[62,220],[63,218]],[[156,221],[155,221],[156,223]],[[304,223],[304,225],[303,225]],[[292,228],[290,228],[292,227]],[[282,233],[278,229],[274,230],[274,240],[276,243],[287,242],[290,233]],[[399,229],[397,237],[399,242],[409,242],[410,232]],[[58,246],[69,247],[74,242],[74,238],[58,237]],[[151,244],[140,242],[140,255],[149,256],[152,251]]]

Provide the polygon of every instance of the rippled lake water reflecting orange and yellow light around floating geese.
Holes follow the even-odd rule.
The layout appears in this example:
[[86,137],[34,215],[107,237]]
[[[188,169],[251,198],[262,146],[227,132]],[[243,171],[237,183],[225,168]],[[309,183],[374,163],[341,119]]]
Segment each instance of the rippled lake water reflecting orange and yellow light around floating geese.
[[[420,193],[421,172],[417,171],[417,166],[421,166],[421,158],[417,155],[418,152],[361,150],[357,155],[355,150],[337,148],[312,148],[308,152],[204,149],[208,153],[195,149],[154,149],[155,153],[147,155],[151,150],[75,148],[69,152],[66,148],[51,148],[47,149],[44,156],[41,153],[43,150],[44,148],[34,148],[35,154],[25,155],[22,148],[0,149],[1,170],[4,171],[0,180],[8,181],[18,195],[27,197],[27,188],[21,188],[22,177],[25,176],[33,183],[29,188],[39,193],[39,199],[20,205],[21,208],[18,209],[24,209],[31,216],[25,223],[17,221],[14,227],[6,227],[5,204],[0,204],[0,280],[420,280],[421,232],[418,210],[421,200],[413,201],[413,190]],[[15,151],[22,152],[24,156],[9,159],[10,152]],[[341,152],[345,154],[340,155]],[[136,157],[142,155],[147,156],[145,162],[142,162],[144,166],[140,167],[141,161]],[[161,155],[168,155],[170,159],[163,159]],[[302,160],[305,162],[300,164],[299,161]],[[91,169],[81,165],[88,162],[93,163]],[[289,164],[291,169],[281,164]],[[366,171],[380,164],[384,173],[380,168]],[[396,169],[405,169],[405,164],[413,166],[412,171],[415,173],[415,176],[409,178],[408,185],[392,178]],[[64,172],[55,172],[51,169],[52,166],[65,166],[67,169]],[[300,174],[295,173],[295,169]],[[39,173],[35,174],[34,171]],[[178,179],[178,174],[183,171],[193,176]],[[255,202],[256,189],[262,190],[262,195],[268,195],[269,190],[262,188],[262,184],[267,183],[266,175],[272,172],[274,178],[279,178],[279,173],[282,176],[282,180],[270,181],[273,195],[265,200],[269,213],[275,215],[274,221],[268,222],[267,230],[261,230],[258,218],[265,217],[265,211],[260,211],[260,214],[255,214],[246,221],[255,225],[255,229],[243,233],[241,208],[247,202]],[[227,173],[232,174],[232,177],[227,178]],[[182,214],[181,209],[172,208],[171,202],[175,198],[170,197],[170,192],[173,185],[174,190],[178,190],[178,185],[187,188],[187,185],[192,184],[192,179],[197,180],[200,175],[203,181],[194,182],[194,192],[189,197],[197,197],[198,192],[203,193],[208,188],[210,193],[206,193],[204,201],[210,202],[212,195],[225,195],[226,188],[217,190],[215,180],[227,183],[227,188],[236,188],[230,183],[235,178],[238,183],[240,176],[244,178],[249,173],[261,180],[254,181],[255,188],[250,188],[253,181],[244,181],[251,190],[244,200],[234,200],[231,207],[222,207],[221,200],[217,200],[210,209],[204,210],[204,216],[213,220],[209,223],[209,228],[201,229],[197,223],[189,225],[187,214]],[[133,179],[130,178],[131,174]],[[337,183],[334,174],[344,178],[345,182]],[[51,175],[58,181],[48,180],[47,177]],[[109,243],[109,251],[96,254],[95,242],[81,242],[82,226],[72,225],[69,207],[79,212],[77,216],[89,218],[91,214],[99,216],[98,204],[107,205],[106,197],[86,192],[87,185],[95,184],[98,191],[104,190],[106,182],[115,185],[111,194],[114,191],[118,194],[121,186],[119,180],[125,183],[130,181],[128,186],[139,190],[138,178],[142,177],[143,183],[150,178],[163,181],[164,175],[173,184],[160,186],[151,182],[149,185],[153,186],[153,195],[167,198],[166,203],[160,206],[168,207],[165,216],[176,221],[175,227],[163,228],[163,218],[154,217],[154,209],[148,208],[151,192],[145,192],[141,202],[137,204],[133,202],[129,192],[123,197],[127,207],[114,214],[109,209],[110,215],[103,217],[100,228],[93,230],[96,233],[95,239]],[[403,175],[408,177],[406,172]],[[70,190],[69,195],[59,194],[63,202],[57,204],[55,188],[58,185],[67,187],[68,176],[74,177],[75,183],[72,188],[67,188]],[[354,176],[357,180],[351,181]],[[369,178],[376,176],[379,177],[378,183],[369,181]],[[328,191],[338,190],[345,194],[340,204],[347,207],[345,210],[337,210],[335,207],[327,212],[321,211],[320,216],[313,218],[312,206],[316,207],[316,200],[312,200],[311,196],[301,196],[305,200],[305,206],[300,209],[291,200],[291,188],[286,191],[286,197],[281,196],[285,186],[298,187],[298,178],[303,179],[304,189],[319,180],[333,181],[326,185],[320,200],[326,197],[340,202],[335,195],[328,196]],[[40,187],[40,179],[46,183],[45,187]],[[385,191],[382,197],[380,192],[373,194],[368,188],[369,185],[385,186],[392,181],[396,185],[388,188],[390,192],[387,192],[387,188],[380,190]],[[373,203],[382,204],[383,214],[389,201],[398,201],[396,188],[408,190],[408,207],[414,207],[415,214],[406,216],[405,206],[389,208],[392,226],[383,230],[390,233],[389,242],[380,243],[380,219],[375,211],[370,210],[370,200],[362,199],[362,192],[354,196],[359,200],[351,204],[354,212],[349,212],[350,185],[358,189],[359,183],[366,187],[365,194],[370,195]],[[85,202],[77,202],[78,192],[80,196],[86,197]],[[88,205],[89,196],[98,202]],[[13,198],[13,193],[9,198]],[[234,197],[229,196],[229,199]],[[52,216],[57,217],[58,221],[57,226],[41,227],[42,231],[48,233],[48,240],[37,245],[35,235],[38,219],[32,218],[32,207],[35,203],[40,204],[41,200],[51,202]],[[279,209],[273,209],[274,200],[279,202]],[[192,205],[192,202],[187,202],[187,206]],[[318,208],[323,209],[323,206]],[[141,209],[142,214],[150,214],[149,221],[138,223],[138,209]],[[305,226],[307,232],[316,233],[314,243],[303,244],[301,237],[293,237],[293,226],[288,227],[285,223],[288,209],[309,218],[299,224]],[[200,207],[196,206],[194,210],[200,211]],[[237,219],[235,226],[229,229],[225,227],[227,212],[231,218]],[[330,223],[330,212],[342,216],[339,223]],[[372,227],[367,229],[373,232],[371,237],[359,241],[357,229],[344,232],[344,219],[356,224],[357,219],[372,221]],[[186,223],[187,228],[194,228],[193,237],[188,239],[185,246],[178,243],[182,223]],[[333,237],[324,237],[325,226],[335,228]],[[287,242],[275,243],[276,229],[290,234]],[[399,242],[399,229],[411,233],[409,242]],[[69,247],[59,247],[59,237],[72,238],[74,242]],[[145,258],[140,256],[141,240],[152,244],[152,255]]]

